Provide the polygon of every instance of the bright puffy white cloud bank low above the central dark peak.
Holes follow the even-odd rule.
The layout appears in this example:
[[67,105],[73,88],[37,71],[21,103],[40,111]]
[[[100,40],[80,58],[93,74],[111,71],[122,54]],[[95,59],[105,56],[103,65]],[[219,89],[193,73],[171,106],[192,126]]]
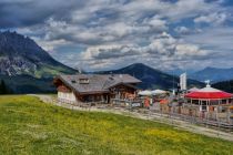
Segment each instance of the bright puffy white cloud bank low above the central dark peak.
[[101,70],[112,68],[115,63],[120,65],[132,63],[129,60],[146,62],[161,69],[173,68],[174,63],[182,66],[181,63],[184,61],[199,61],[209,54],[209,51],[176,40],[164,32],[160,38],[144,46],[138,44],[99,45],[88,48],[80,56],[83,58],[84,63],[89,64],[89,69]]

